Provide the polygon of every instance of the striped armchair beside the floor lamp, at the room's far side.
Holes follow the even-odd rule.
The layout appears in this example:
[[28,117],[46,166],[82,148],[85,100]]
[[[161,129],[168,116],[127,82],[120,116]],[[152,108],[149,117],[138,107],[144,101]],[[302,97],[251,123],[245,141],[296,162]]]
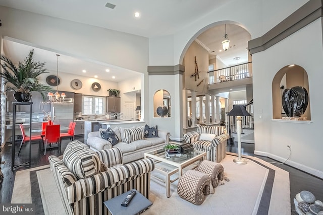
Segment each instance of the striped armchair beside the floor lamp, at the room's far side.
[[[201,139],[205,134],[215,134],[212,139]],[[194,150],[206,152],[209,161],[220,163],[226,157],[227,139],[230,138],[225,126],[198,125],[197,131],[185,133],[184,140],[193,145]]]

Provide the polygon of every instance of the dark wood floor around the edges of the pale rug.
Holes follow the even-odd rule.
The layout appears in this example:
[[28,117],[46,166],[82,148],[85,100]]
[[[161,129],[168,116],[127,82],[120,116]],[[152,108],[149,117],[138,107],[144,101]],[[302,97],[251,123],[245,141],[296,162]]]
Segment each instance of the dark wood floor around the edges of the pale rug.
[[[77,137],[78,140],[84,141],[83,137]],[[31,168],[43,166],[49,164],[48,162],[48,156],[49,155],[56,155],[60,156],[63,154],[66,145],[68,144],[70,140],[66,139],[62,141],[62,150],[61,152],[58,149],[52,149],[48,150],[46,155],[43,155],[43,152],[39,150],[38,144],[32,144],[31,145]],[[18,149],[18,145],[16,144],[16,149]],[[15,171],[11,171],[11,145],[6,145],[2,152],[2,161],[5,161],[5,164],[3,164],[2,172],[4,174],[4,181],[0,184],[0,202],[1,203],[10,203],[11,202],[11,196],[13,191],[13,185],[15,181],[15,172],[23,169],[27,169],[29,167],[18,167],[15,169]],[[17,152],[18,150],[16,150]],[[237,153],[237,142],[234,142],[233,145],[227,146],[228,152]],[[242,154],[243,155],[249,155],[254,156],[254,145],[253,144],[244,144],[242,143]],[[21,155],[18,157],[16,153],[16,163],[21,163],[27,160],[28,154],[28,145],[24,146]],[[257,158],[261,158],[264,161],[267,162],[277,162],[270,158],[261,157],[261,156],[255,156]],[[280,167],[281,169],[284,169],[289,172],[290,176],[290,189],[291,189],[291,206],[292,206],[292,214],[297,214],[295,211],[295,206],[293,203],[293,198],[297,193],[299,193],[302,190],[308,190],[312,192],[316,199],[323,201],[323,180],[317,177],[314,177],[312,175],[309,175],[307,173],[304,173],[300,170],[297,170],[293,167],[290,167],[285,164],[275,164],[275,166]]]

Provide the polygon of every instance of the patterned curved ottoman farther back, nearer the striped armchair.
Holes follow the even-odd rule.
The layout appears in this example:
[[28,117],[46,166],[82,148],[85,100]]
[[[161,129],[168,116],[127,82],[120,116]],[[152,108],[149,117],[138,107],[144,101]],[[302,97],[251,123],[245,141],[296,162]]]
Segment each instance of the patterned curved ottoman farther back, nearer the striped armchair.
[[213,161],[201,161],[201,163],[197,166],[196,171],[208,175],[212,180],[213,188],[216,188],[219,185],[219,180],[222,181],[224,178],[223,166]]

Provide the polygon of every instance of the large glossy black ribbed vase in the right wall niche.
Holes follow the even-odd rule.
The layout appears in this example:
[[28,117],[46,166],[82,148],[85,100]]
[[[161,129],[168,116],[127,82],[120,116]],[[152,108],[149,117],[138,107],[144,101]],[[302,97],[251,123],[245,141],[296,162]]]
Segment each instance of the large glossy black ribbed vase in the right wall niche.
[[303,87],[287,88],[283,92],[282,105],[288,117],[301,117],[308,104],[308,93]]

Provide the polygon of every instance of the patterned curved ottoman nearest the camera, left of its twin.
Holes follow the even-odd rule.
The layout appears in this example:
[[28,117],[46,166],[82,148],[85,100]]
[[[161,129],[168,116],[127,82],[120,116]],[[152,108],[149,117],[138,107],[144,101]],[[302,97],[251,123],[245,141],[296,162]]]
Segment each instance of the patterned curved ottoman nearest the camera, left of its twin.
[[195,170],[188,170],[178,182],[178,195],[196,205],[202,204],[210,192],[213,193],[210,177]]

